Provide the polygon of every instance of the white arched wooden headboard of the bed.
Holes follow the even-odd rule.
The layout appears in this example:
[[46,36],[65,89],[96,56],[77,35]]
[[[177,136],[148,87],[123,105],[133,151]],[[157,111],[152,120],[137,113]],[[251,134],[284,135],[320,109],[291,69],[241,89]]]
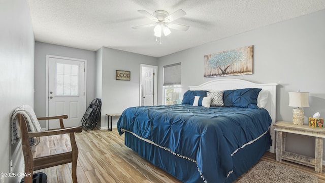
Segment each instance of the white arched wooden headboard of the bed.
[[268,84],[259,84],[253,83],[250,81],[245,81],[241,79],[216,79],[208,81],[199,86],[189,86],[190,90],[229,90],[229,89],[242,89],[242,88],[262,88],[269,91],[268,103],[265,107],[269,111],[269,114],[272,118],[271,125],[271,138],[272,146],[270,152],[274,153],[274,143],[275,143],[275,133],[273,124],[275,123],[275,114],[276,114],[276,86],[277,83],[268,83]]

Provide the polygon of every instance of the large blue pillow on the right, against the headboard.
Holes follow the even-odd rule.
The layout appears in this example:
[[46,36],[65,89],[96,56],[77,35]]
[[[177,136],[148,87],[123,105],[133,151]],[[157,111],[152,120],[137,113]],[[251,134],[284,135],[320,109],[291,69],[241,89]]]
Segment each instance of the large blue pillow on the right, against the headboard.
[[223,92],[224,106],[258,109],[257,97],[261,90],[260,88],[225,90]]

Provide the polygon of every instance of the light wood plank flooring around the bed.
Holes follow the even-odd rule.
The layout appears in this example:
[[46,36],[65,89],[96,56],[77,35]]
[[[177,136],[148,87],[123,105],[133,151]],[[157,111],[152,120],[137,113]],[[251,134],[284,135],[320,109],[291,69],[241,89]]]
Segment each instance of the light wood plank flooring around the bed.
[[[76,134],[79,149],[78,182],[120,182],[120,183],[170,183],[181,182],[165,171],[155,167],[124,145],[124,135],[119,136],[116,129],[88,130]],[[325,183],[325,168],[317,173],[313,168],[287,161],[275,161],[275,154],[266,153],[262,160],[289,166],[319,178]],[[72,182],[71,164],[46,168],[44,172],[48,183]],[[35,173],[34,172],[34,173]]]

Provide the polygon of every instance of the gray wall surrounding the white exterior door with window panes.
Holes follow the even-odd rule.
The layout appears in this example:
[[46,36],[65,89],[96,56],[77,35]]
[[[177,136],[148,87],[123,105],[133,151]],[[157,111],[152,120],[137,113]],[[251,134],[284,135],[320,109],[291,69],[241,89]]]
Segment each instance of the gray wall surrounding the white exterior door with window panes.
[[[95,97],[95,57],[94,51],[59,46],[54,44],[35,43],[35,113],[37,116],[45,116],[45,78],[46,55],[64,56],[87,60],[87,99],[86,105]],[[44,122],[43,122],[44,123]],[[41,126],[44,124],[40,121]]]

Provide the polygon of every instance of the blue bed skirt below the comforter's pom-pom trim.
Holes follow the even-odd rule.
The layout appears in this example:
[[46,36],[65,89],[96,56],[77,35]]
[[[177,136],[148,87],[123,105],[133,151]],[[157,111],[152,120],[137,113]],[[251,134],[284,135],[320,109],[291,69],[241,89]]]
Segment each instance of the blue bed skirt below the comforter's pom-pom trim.
[[[136,151],[141,157],[155,166],[165,170],[177,179],[188,182],[204,182],[198,171],[197,164],[173,155],[170,151],[154,144],[145,142],[131,133],[125,132],[125,145]],[[264,134],[255,142],[247,144],[233,155],[234,169],[225,182],[233,182],[262,158],[270,148],[270,134]],[[217,170],[216,170],[217,171]]]

